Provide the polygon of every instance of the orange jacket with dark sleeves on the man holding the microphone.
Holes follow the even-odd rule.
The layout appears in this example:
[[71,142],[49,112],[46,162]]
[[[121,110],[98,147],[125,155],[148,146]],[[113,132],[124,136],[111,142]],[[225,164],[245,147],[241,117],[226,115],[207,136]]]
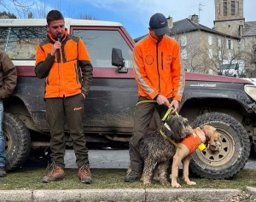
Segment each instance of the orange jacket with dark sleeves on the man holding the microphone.
[[47,40],[37,46],[35,73],[45,79],[44,97],[72,96],[81,92],[88,95],[93,68],[84,42],[67,34],[66,29],[61,49],[52,56],[50,51],[55,41],[48,32]]

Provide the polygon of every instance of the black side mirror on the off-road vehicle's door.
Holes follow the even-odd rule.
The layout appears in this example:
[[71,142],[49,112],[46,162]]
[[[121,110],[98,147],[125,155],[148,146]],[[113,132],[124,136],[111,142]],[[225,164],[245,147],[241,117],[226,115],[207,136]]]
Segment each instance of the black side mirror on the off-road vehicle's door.
[[121,49],[112,49],[112,65],[118,67],[119,73],[127,73],[128,68],[125,67],[125,60]]

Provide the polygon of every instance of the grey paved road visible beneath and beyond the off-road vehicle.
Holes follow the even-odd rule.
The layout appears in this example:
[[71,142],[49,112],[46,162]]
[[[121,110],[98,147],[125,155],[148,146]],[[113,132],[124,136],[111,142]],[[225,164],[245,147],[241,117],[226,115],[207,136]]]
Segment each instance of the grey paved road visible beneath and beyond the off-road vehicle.
[[[67,168],[77,168],[73,150],[67,150],[64,159]],[[128,150],[89,150],[89,160],[91,168],[126,169],[129,167]],[[249,159],[245,168],[256,169],[256,158]]]

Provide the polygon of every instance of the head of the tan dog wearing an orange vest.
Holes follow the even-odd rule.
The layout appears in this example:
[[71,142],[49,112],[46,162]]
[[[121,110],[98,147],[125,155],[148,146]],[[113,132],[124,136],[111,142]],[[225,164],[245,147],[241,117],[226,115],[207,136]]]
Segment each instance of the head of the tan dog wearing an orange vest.
[[197,127],[195,130],[202,143],[207,142],[208,147],[212,152],[221,149],[220,134],[212,125],[204,125],[202,128]]

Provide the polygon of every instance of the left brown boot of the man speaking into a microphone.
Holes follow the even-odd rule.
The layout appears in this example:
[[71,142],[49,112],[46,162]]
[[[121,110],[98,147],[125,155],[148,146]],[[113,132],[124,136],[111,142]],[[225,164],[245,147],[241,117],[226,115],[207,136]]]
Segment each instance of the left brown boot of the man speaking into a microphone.
[[65,178],[64,170],[61,168],[61,166],[56,165],[55,163],[49,164],[46,170],[50,171],[46,176],[43,177],[43,182],[45,183],[61,181]]

